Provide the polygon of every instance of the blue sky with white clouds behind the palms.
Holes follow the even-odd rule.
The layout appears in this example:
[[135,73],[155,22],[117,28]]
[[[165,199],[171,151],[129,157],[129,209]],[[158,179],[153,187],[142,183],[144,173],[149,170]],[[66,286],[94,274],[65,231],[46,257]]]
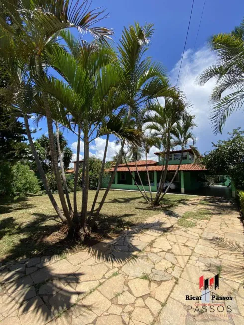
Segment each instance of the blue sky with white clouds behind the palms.
[[[178,83],[179,87],[184,87],[187,99],[193,104],[192,113],[196,115],[198,124],[198,128],[194,132],[197,136],[197,147],[202,153],[211,150],[211,142],[226,139],[227,132],[244,124],[243,112],[234,113],[227,121],[223,135],[214,135],[208,120],[210,112],[208,98],[214,82],[210,81],[204,87],[197,86],[195,83],[196,76],[215,62],[214,54],[207,47],[209,37],[215,33],[229,32],[241,22],[244,16],[244,1],[236,0],[235,4],[231,5],[229,0],[206,0],[196,47],[193,50],[203,3],[204,0],[194,1],[186,52]],[[169,73],[172,84],[175,84],[177,80],[191,5],[192,0],[93,0],[94,8],[103,6],[109,13],[109,17],[101,21],[100,25],[114,29],[115,46],[120,39],[123,28],[129,24],[133,24],[135,21],[142,25],[146,22],[154,23],[155,34],[147,53],[155,61],[162,62]],[[88,35],[84,35],[83,38],[90,39]],[[34,134],[35,138],[47,131],[45,121],[41,123],[40,127],[42,130]],[[68,132],[65,132],[65,136],[75,154],[75,136]],[[111,137],[108,159],[113,156],[115,150],[119,150],[114,140]],[[101,138],[93,143],[90,150],[91,154],[102,158],[104,142],[105,140]],[[83,146],[81,145],[81,157],[82,150]],[[150,158],[156,160],[153,151],[154,148],[150,152]]]

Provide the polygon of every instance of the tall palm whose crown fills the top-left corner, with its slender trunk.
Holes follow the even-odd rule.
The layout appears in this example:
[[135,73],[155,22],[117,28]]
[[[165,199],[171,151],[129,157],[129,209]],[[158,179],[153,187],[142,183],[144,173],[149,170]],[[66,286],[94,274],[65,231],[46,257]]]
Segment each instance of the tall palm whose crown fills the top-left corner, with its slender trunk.
[[[90,2],[90,3],[89,3]],[[34,59],[36,73],[39,78],[44,77],[42,69],[42,55],[44,50],[52,41],[56,40],[59,32],[66,28],[75,27],[80,32],[88,31],[95,38],[104,40],[112,34],[110,29],[103,27],[92,27],[101,20],[102,12],[90,11],[91,1],[84,0],[79,6],[72,5],[69,0],[33,0],[33,1],[4,1],[4,10],[0,13],[0,24],[2,28],[14,35],[15,42],[22,50],[22,55]],[[5,21],[5,13],[10,12],[13,24]],[[55,143],[52,127],[52,114],[47,92],[42,92],[43,104],[47,119],[48,135],[52,155],[53,170],[57,182],[59,198],[64,215],[70,228],[73,226],[69,214],[59,174],[58,159],[55,151]]]

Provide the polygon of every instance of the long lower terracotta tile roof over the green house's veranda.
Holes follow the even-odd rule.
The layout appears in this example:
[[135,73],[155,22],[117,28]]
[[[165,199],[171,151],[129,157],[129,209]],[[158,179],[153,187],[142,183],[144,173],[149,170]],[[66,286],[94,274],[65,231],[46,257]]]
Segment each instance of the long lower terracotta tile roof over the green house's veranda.
[[[148,165],[148,171],[153,172],[153,171],[161,171],[163,165],[156,165],[156,166],[150,166]],[[168,171],[175,171],[177,169],[178,165],[168,165]],[[106,169],[106,172],[113,172],[114,168]],[[134,166],[130,167],[131,172],[135,172],[136,168]],[[138,166],[139,171],[146,171],[146,166]],[[205,166],[200,165],[200,164],[182,164],[180,165],[179,170],[183,171],[188,171],[188,170],[198,170],[198,171],[203,171],[207,170]],[[128,172],[128,168],[125,167],[118,167],[117,169],[118,172]]]

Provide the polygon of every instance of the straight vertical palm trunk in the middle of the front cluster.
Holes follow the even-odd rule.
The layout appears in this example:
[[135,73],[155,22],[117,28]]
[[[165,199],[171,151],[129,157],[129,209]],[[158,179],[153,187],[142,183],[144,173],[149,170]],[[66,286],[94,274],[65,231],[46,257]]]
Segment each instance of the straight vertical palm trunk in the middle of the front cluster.
[[[84,133],[84,164],[85,166],[85,180],[82,191],[82,208],[81,208],[81,226],[86,233],[86,217],[87,217],[87,203],[88,203],[88,190],[89,190],[89,142],[88,136]],[[83,172],[83,171],[82,171]]]

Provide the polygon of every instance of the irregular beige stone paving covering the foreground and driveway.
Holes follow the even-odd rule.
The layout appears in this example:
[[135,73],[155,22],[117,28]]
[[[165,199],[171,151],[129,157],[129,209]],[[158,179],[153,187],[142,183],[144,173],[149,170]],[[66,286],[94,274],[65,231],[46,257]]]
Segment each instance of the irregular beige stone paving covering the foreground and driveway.
[[[239,213],[224,200],[202,205],[200,199],[65,259],[43,256],[0,265],[0,325],[244,324]],[[209,221],[178,225],[185,212],[199,208],[209,209]],[[219,310],[195,310],[196,301],[186,301],[186,295],[200,295],[199,277],[217,273],[218,295],[233,299]]]

